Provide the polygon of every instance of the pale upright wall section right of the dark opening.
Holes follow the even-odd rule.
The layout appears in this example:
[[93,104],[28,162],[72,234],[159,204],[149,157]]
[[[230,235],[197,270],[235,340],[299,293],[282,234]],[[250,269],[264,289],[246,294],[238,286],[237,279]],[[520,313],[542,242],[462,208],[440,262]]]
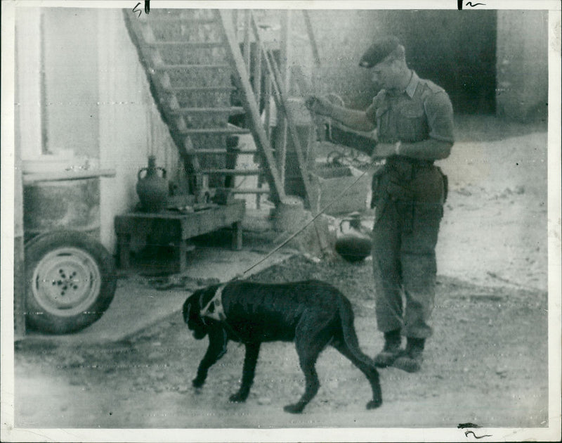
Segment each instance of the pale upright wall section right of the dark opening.
[[548,12],[497,12],[497,113],[547,116]]

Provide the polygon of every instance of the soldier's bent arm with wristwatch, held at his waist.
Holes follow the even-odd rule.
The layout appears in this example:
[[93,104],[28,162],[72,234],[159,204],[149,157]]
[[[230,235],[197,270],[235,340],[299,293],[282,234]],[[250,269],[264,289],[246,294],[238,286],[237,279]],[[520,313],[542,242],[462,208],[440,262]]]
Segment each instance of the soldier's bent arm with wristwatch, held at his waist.
[[447,158],[455,142],[452,104],[445,92],[438,92],[424,103],[429,123],[429,139],[416,143],[400,143],[398,154],[421,160]]

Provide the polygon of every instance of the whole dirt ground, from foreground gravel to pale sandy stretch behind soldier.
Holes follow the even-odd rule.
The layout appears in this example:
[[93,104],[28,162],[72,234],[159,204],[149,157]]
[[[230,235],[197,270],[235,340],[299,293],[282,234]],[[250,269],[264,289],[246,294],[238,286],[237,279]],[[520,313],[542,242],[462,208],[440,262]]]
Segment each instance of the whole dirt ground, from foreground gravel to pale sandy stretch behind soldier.
[[[284,413],[282,406],[303,390],[294,345],[287,343],[262,347],[246,403],[228,402],[244,357],[244,348],[235,343],[211,368],[207,385],[194,390],[190,380],[207,340],[194,340],[178,311],[112,345],[16,344],[16,425],[547,426],[547,134],[540,125],[506,124],[493,117],[466,118],[457,128],[458,142],[442,165],[451,191],[438,246],[435,333],[420,373],[380,371],[381,408],[365,410],[367,380],[334,349],[326,349],[317,365],[317,397],[300,416]],[[296,256],[251,279],[308,278],[328,281],[350,298],[360,345],[374,356],[382,339],[374,321],[370,259],[349,264]]]

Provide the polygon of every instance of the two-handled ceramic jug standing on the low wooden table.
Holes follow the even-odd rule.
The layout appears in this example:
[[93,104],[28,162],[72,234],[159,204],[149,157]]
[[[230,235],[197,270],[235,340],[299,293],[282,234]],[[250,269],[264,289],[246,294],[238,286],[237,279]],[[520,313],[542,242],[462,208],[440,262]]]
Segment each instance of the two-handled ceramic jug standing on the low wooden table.
[[[158,171],[162,171],[162,176]],[[136,193],[141,200],[141,207],[146,212],[159,212],[167,205],[168,200],[168,180],[166,179],[166,169],[156,166],[156,157],[148,157],[148,167],[143,167],[138,171],[138,181]]]

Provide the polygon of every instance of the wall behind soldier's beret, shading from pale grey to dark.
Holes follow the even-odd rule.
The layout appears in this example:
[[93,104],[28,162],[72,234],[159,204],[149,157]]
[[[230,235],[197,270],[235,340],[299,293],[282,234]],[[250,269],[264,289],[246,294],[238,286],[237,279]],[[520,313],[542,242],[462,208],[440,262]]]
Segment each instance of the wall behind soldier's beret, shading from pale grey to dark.
[[403,42],[410,68],[449,93],[457,112],[493,112],[495,11],[311,11],[325,91],[365,108],[377,91],[358,67],[379,36]]

